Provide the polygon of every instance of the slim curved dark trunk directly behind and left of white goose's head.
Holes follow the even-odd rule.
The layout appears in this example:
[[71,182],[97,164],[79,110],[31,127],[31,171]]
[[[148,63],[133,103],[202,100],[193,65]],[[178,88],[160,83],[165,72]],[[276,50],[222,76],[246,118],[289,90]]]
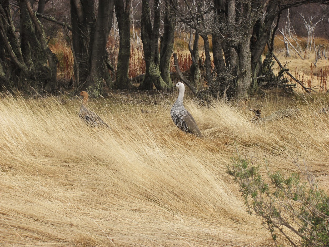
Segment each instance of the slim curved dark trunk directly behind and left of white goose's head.
[[169,4],[165,4],[164,11],[164,34],[160,44],[160,73],[164,82],[172,87],[172,81],[170,78],[170,58],[172,56],[172,50],[174,48],[174,34],[176,27],[176,14],[170,8],[171,2],[176,0],[170,0]]

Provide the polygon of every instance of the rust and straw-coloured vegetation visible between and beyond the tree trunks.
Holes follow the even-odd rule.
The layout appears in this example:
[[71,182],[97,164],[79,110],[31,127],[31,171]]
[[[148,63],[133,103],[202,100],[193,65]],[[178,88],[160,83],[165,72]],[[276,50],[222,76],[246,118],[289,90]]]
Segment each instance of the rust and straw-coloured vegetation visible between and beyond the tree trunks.
[[[306,41],[298,37],[300,41],[298,46],[302,49],[302,57],[301,59],[293,49],[290,48],[290,57],[285,56],[285,45],[282,41],[282,37],[278,36],[274,40],[274,53],[280,59],[282,64],[285,64],[290,71],[295,75],[298,80],[301,80],[305,83],[307,87],[315,87],[317,86],[319,92],[326,92],[328,90],[328,76],[329,76],[329,66],[327,65],[326,60],[329,58],[329,53],[325,49],[321,52],[321,57],[319,58],[316,66],[314,65],[315,61],[315,52],[311,49],[306,49]],[[210,41],[210,50],[212,50],[212,42]],[[319,46],[324,44],[325,40],[320,38],[315,38],[315,45]],[[293,43],[293,40],[291,40]],[[203,63],[205,61],[205,54],[202,49],[203,40],[199,41],[199,50],[200,50],[200,58]],[[58,59],[57,64],[57,77],[58,79],[70,80],[71,77],[74,76],[73,73],[73,56],[72,51],[70,49],[70,45],[68,42],[63,41],[61,39],[55,39],[50,44],[51,50],[56,54]],[[118,56],[119,43],[118,39],[115,39],[114,36],[110,36],[109,41],[107,43],[107,51],[109,53],[109,60],[116,69],[117,56]],[[176,39],[174,43],[174,49],[177,53],[179,68],[181,71],[186,71],[190,69],[192,64],[191,56],[188,51],[188,41],[186,39]],[[267,52],[267,46],[264,50],[264,55]],[[211,53],[212,55],[212,53]],[[175,68],[173,66],[174,61],[171,58],[170,62],[170,71],[174,72]],[[214,63],[212,60],[212,66],[214,67]],[[277,66],[278,68],[278,66]],[[278,71],[279,69],[275,69]],[[136,45],[132,43],[130,60],[129,60],[129,78],[133,78],[140,74],[145,73],[145,61],[144,61],[144,52],[142,45]],[[115,75],[112,75],[115,77]],[[288,77],[288,75],[285,75]],[[297,90],[301,90],[301,87],[297,85]]]

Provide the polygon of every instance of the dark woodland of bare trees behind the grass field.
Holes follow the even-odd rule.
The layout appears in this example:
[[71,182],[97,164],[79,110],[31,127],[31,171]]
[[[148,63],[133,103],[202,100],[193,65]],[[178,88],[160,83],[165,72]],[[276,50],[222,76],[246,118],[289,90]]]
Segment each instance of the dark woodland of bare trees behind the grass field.
[[[3,0],[1,8],[3,90],[171,91],[172,80],[184,76],[175,73],[175,52],[185,83],[202,99],[294,84],[311,92],[317,85],[306,78],[284,78],[284,61],[274,75],[273,50],[312,57],[312,71],[327,57],[326,1]],[[325,87],[322,81],[317,89]]]

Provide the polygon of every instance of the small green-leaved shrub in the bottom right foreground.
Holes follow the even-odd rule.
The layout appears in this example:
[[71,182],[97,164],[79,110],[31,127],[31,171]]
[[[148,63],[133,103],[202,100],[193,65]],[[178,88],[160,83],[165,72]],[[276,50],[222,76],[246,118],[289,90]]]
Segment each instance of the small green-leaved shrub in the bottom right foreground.
[[[270,179],[270,183],[266,183],[259,173],[260,167],[242,158],[238,149],[237,157],[232,160],[227,173],[239,183],[247,212],[262,218],[276,246],[275,230],[293,246],[329,246],[329,197],[318,188],[306,166],[301,169],[298,160],[293,162],[305,177],[302,181],[297,173],[288,177],[280,172],[271,173],[265,161]],[[287,229],[300,238],[300,244],[291,240]]]

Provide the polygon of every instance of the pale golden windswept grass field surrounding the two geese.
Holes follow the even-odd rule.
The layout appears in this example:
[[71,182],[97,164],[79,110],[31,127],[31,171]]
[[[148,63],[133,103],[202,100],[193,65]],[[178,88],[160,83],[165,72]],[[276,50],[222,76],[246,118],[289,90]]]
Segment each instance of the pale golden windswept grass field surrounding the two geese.
[[[203,139],[173,124],[175,97],[91,100],[106,129],[79,119],[78,97],[1,95],[0,246],[274,246],[225,173],[236,143],[272,171],[304,159],[329,191],[329,117],[316,112],[328,95],[206,107],[187,98]],[[256,124],[252,106],[300,111]]]

